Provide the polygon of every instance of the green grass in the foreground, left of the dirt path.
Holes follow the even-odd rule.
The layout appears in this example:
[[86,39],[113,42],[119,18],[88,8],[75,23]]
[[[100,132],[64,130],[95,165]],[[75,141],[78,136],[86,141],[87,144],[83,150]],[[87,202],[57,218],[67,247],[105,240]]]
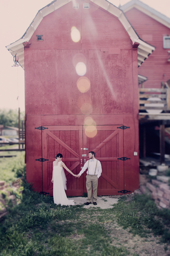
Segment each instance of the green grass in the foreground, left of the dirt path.
[[0,255],[129,255],[124,246],[111,244],[109,231],[101,219],[96,221],[98,212],[81,206],[61,207],[50,196],[25,189],[21,203],[1,223]]

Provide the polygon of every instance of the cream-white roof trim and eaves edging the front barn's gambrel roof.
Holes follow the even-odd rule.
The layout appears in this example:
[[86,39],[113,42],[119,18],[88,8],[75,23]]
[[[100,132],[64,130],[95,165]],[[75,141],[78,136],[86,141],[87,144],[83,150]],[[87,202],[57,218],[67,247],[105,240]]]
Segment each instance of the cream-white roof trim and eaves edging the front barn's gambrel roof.
[[[24,68],[24,42],[28,42],[31,39],[31,36],[33,35],[34,31],[42,21],[43,17],[48,15],[49,13],[57,10],[61,6],[65,5],[66,3],[70,2],[72,0],[55,0],[42,8],[38,11],[37,15],[35,16],[34,20],[30,24],[29,28],[26,30],[25,34],[16,42],[7,45],[6,48],[10,51],[10,53],[14,56],[17,54],[19,57],[19,63]],[[146,42],[142,41],[139,36],[136,34],[135,30],[132,28],[131,24],[127,20],[126,16],[120,10],[118,7],[114,6],[112,3],[106,1],[106,0],[91,0],[91,2],[94,2],[99,7],[102,7],[104,10],[110,12],[114,16],[116,16],[119,21],[122,23],[123,27],[127,31],[127,34],[130,36],[130,39],[132,40],[132,44],[135,42],[139,43],[138,46],[138,66],[141,65],[141,63],[145,60],[145,58],[148,58],[148,56],[152,53],[152,51],[155,50],[155,47],[147,44]]]

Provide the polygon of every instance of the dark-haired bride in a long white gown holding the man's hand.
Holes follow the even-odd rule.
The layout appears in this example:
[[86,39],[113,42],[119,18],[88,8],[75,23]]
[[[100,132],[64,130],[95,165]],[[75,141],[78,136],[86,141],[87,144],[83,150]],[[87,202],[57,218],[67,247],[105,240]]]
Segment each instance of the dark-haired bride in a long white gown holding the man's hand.
[[74,200],[69,200],[66,196],[65,190],[67,179],[65,177],[65,170],[71,173],[74,177],[77,177],[72,171],[70,171],[67,166],[61,161],[62,155],[59,153],[56,155],[56,160],[53,162],[53,171],[52,171],[52,179],[53,183],[53,198],[54,203],[62,205],[74,205]]

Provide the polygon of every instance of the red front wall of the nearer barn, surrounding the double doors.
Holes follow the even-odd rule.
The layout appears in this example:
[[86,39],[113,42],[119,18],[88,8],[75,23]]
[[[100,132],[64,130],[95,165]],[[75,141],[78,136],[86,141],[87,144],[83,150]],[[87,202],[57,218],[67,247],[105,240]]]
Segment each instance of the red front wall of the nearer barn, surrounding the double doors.
[[[82,125],[90,115],[96,125],[123,124],[126,186],[138,188],[137,50],[119,20],[90,2],[72,2],[45,16],[25,48],[27,180],[42,189],[41,125]],[[65,15],[67,13],[67,15]],[[75,26],[81,35],[73,42]],[[43,35],[37,41],[36,35]],[[78,62],[86,64],[83,76]],[[84,79],[84,80],[83,80]],[[84,91],[84,85],[90,88]],[[31,140],[30,140],[31,137]],[[128,188],[127,188],[128,189]]]

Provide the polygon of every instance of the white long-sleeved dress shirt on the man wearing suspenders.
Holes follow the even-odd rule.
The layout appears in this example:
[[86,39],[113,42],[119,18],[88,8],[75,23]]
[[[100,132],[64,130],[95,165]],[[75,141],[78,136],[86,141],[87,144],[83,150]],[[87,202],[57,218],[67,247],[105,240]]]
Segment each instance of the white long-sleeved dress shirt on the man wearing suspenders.
[[[94,161],[90,161],[90,160],[88,160],[89,161],[89,170],[87,170],[87,174],[94,175],[97,159],[95,158]],[[88,168],[88,161],[84,164],[82,170],[80,171],[80,173],[79,173],[80,176]],[[102,172],[101,162],[98,160],[97,161],[96,174],[95,174],[95,175],[97,175],[97,178],[99,178],[101,176],[101,172]]]

